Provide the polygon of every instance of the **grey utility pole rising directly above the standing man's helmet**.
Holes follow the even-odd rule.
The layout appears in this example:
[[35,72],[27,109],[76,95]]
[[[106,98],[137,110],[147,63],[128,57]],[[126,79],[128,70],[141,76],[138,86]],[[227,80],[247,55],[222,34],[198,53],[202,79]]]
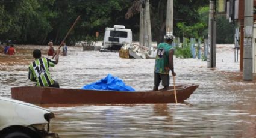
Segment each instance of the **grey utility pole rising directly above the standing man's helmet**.
[[173,0],[167,0],[166,32],[173,32]]

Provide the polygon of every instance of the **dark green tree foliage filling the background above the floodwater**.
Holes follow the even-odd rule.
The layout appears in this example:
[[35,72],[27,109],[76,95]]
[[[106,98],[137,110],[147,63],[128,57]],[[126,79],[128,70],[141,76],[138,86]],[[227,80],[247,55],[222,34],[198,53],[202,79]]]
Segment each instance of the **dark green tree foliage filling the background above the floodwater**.
[[[0,41],[16,44],[59,44],[78,15],[80,20],[67,43],[102,38],[106,27],[125,25],[139,40],[140,0],[0,0]],[[166,0],[150,0],[152,41],[163,41],[166,30]],[[208,0],[174,0],[173,34],[176,37],[205,36]],[[203,7],[203,8],[202,8]],[[199,10],[201,9],[201,10]],[[128,12],[130,11],[130,12]],[[134,11],[135,13],[133,13]],[[125,15],[129,19],[125,19]],[[223,21],[223,20],[222,20]],[[206,23],[206,24],[205,24]],[[222,25],[222,22],[220,22]],[[229,29],[226,30],[228,33]],[[100,38],[100,39],[101,39]],[[227,41],[227,40],[221,40]]]

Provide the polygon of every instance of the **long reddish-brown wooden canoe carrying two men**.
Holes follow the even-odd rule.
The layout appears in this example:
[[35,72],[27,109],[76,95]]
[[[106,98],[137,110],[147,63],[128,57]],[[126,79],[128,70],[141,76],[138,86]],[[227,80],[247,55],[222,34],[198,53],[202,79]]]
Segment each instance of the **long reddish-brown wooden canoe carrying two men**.
[[[199,85],[176,86],[177,101],[183,102]],[[159,91],[99,91],[21,86],[11,88],[11,97],[33,104],[144,104],[175,103],[173,86]]]

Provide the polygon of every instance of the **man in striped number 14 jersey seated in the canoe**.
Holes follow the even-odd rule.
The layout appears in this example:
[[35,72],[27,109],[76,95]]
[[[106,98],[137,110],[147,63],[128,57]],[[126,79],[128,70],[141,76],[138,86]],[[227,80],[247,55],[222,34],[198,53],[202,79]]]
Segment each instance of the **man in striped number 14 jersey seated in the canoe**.
[[34,50],[33,57],[35,61],[31,62],[28,67],[28,79],[35,81],[36,86],[60,88],[58,82],[54,81],[49,73],[49,67],[58,64],[59,53],[60,49],[57,50],[54,61],[49,58],[41,58],[41,51],[39,49]]

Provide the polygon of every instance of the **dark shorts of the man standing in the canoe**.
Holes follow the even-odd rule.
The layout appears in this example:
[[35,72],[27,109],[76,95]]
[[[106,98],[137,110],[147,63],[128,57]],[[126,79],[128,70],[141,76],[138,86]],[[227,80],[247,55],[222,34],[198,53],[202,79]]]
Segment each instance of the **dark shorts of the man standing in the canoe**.
[[170,84],[169,74],[154,73],[154,85],[158,87],[161,81],[163,86],[168,87]]

